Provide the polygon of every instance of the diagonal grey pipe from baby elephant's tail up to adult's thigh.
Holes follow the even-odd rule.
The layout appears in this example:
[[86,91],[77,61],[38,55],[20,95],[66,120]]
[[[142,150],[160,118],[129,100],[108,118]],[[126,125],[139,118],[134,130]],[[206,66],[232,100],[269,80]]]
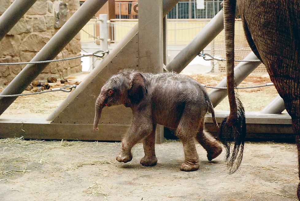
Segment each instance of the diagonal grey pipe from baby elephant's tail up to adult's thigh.
[[[244,60],[257,60],[258,58],[255,56],[253,52],[250,52]],[[258,62],[240,62],[234,68],[234,76],[235,76],[235,83],[239,85],[252,71],[254,71],[259,65],[261,64],[260,61]],[[221,82],[217,84],[217,87],[226,87],[226,77],[222,79]],[[211,102],[213,103],[213,107],[216,107],[226,96],[227,90],[226,89],[213,89],[209,93]]]

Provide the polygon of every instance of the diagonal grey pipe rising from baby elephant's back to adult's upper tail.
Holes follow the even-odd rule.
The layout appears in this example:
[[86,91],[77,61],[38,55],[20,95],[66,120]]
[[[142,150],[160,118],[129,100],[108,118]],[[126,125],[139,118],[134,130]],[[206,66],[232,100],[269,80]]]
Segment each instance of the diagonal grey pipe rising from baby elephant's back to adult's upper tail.
[[177,73],[181,72],[223,29],[223,10],[220,10],[197,36],[166,66],[167,70]]

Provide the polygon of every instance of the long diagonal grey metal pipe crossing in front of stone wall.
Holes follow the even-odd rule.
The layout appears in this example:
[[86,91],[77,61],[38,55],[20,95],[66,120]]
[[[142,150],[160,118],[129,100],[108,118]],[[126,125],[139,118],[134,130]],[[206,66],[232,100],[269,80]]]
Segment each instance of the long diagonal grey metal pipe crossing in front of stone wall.
[[[31,61],[52,60],[72,40],[107,0],[87,0]],[[1,95],[20,94],[48,64],[29,64],[10,82]],[[0,115],[16,97],[0,99]]]

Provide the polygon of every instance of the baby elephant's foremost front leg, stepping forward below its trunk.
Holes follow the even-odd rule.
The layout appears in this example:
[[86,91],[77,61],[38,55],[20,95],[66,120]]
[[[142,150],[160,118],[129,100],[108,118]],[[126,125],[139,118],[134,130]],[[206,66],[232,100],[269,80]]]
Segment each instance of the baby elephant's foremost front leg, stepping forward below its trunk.
[[[146,121],[140,121],[140,122],[146,122]],[[139,125],[136,122],[132,122],[127,135],[122,140],[120,153],[116,157],[117,161],[124,162],[124,163],[131,161],[132,147],[151,132],[152,132],[152,123],[149,125],[148,124]]]

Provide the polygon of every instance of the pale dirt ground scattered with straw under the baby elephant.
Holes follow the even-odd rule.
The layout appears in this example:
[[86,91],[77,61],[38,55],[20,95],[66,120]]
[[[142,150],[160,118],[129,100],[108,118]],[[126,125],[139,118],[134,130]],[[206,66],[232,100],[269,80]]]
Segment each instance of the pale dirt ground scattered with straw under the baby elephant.
[[[70,83],[87,74],[74,75]],[[215,86],[224,75],[192,75]],[[267,75],[250,75],[241,86],[271,82]],[[52,87],[59,87],[56,83]],[[57,85],[57,86],[56,86]],[[1,90],[0,90],[1,91]],[[209,90],[208,90],[209,91]],[[28,91],[25,91],[28,92]],[[277,92],[274,87],[239,90],[246,111],[260,111]],[[19,97],[1,115],[46,118],[69,93],[50,92]],[[227,110],[227,100],[216,110]],[[246,143],[241,168],[228,174],[224,153],[209,162],[197,146],[200,168],[181,172],[179,141],[156,145],[158,164],[143,167],[143,145],[133,148],[133,160],[119,163],[120,143],[0,139],[0,200],[298,200],[297,148],[284,143]]]

